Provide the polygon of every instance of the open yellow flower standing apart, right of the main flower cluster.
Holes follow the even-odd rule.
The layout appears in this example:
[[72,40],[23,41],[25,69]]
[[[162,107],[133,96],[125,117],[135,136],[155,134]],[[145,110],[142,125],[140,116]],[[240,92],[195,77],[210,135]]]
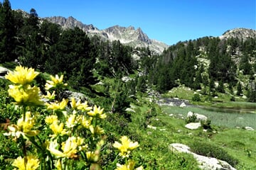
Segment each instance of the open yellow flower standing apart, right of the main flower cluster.
[[122,136],[121,137],[121,143],[115,141],[113,144],[113,147],[116,147],[117,149],[119,149],[120,153],[119,155],[122,157],[129,157],[129,153],[139,147],[139,143],[138,142],[132,142],[131,140],[129,140],[129,138],[127,136]]

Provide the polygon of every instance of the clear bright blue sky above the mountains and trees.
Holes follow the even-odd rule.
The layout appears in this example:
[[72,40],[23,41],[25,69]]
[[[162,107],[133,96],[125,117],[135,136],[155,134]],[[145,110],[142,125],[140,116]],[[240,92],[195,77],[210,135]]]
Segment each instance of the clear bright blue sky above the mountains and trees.
[[[0,0],[3,1],[3,0]],[[99,29],[142,28],[149,38],[173,45],[233,28],[256,29],[256,0],[10,0],[11,8],[38,16],[73,16]]]

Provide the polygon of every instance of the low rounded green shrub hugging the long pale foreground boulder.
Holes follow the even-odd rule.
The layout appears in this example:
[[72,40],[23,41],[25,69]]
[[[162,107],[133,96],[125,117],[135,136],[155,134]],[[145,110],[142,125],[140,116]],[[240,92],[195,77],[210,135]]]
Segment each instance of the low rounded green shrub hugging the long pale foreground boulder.
[[191,147],[191,151],[196,154],[201,154],[205,157],[215,157],[216,159],[228,162],[231,166],[238,164],[238,159],[230,156],[228,152],[218,146],[206,142],[194,142],[189,147]]

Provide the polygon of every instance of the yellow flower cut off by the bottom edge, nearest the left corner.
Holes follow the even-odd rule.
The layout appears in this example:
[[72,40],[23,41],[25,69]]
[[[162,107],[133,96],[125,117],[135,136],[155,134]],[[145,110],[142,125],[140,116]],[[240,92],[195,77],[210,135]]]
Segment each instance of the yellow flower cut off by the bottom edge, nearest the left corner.
[[36,159],[36,157],[28,156],[25,159],[22,157],[18,157],[14,160],[13,166],[16,166],[19,170],[36,170],[39,167],[39,159]]

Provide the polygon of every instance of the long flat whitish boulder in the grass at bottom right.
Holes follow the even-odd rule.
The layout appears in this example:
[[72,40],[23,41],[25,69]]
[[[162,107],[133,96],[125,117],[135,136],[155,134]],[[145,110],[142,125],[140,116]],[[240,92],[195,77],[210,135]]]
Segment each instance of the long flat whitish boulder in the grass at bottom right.
[[193,157],[199,164],[199,168],[203,170],[236,170],[233,168],[233,166],[228,164],[228,162],[213,157],[205,157],[199,154],[195,154],[190,151],[190,147],[183,144],[173,143],[169,145],[169,149],[171,149],[172,152],[185,152],[188,154],[193,154]]

